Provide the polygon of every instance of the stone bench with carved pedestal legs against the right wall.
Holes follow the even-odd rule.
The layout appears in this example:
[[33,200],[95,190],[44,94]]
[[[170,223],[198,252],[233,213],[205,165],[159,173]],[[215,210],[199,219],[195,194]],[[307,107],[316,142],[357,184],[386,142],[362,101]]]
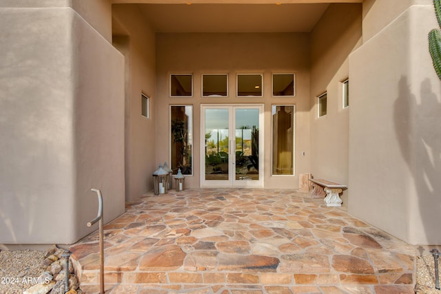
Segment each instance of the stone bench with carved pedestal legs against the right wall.
[[346,185],[315,178],[310,178],[309,181],[313,183],[311,191],[313,198],[326,196],[325,203],[327,207],[342,206],[342,200],[340,199],[339,194],[343,191],[343,189],[347,189]]

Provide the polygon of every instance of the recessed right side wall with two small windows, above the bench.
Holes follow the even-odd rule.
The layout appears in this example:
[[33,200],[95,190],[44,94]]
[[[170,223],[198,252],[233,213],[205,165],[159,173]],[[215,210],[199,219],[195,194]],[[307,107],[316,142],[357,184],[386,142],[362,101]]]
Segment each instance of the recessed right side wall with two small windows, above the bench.
[[[360,45],[361,4],[331,4],[311,32],[311,173],[348,184],[349,107],[342,105],[342,81],[349,76],[349,54]],[[327,115],[318,118],[317,97],[327,92]],[[350,94],[352,97],[352,94]],[[343,205],[351,201],[343,191]]]

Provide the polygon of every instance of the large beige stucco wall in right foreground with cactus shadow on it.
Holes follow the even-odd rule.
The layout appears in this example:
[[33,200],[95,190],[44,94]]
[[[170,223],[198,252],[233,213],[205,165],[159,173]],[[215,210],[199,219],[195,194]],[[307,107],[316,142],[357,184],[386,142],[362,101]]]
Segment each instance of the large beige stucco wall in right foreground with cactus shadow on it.
[[441,243],[436,26],[431,5],[411,6],[349,59],[349,212],[411,244]]

